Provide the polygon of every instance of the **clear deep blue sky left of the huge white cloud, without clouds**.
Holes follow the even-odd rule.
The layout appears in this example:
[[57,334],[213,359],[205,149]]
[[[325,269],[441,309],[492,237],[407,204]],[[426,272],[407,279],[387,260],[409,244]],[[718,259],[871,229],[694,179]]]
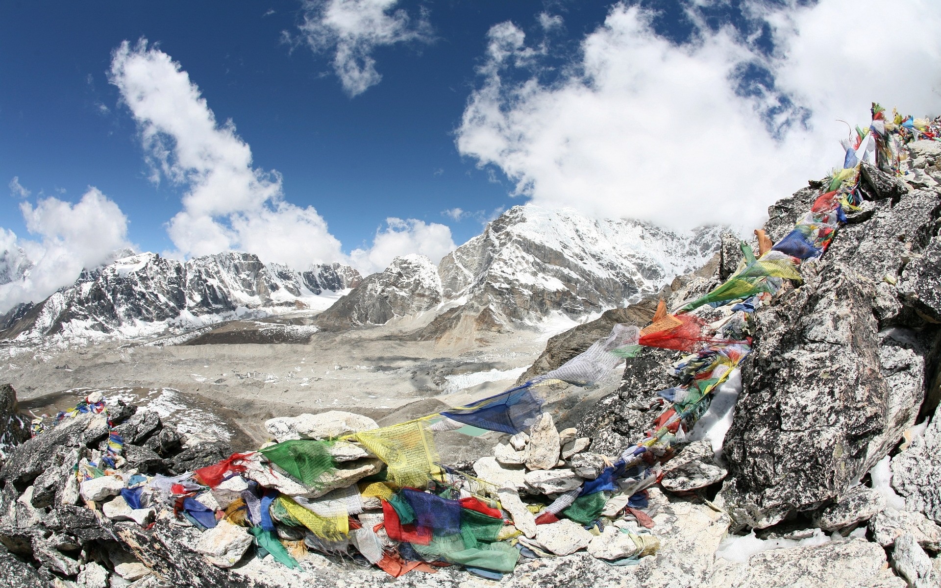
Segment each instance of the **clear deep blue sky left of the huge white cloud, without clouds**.
[[[434,40],[377,48],[382,82],[353,98],[328,55],[282,42],[282,31],[297,32],[297,2],[135,4],[0,6],[3,183],[18,177],[34,199],[77,199],[94,185],[120,204],[133,243],[172,248],[163,223],[179,209],[182,186],[148,180],[136,123],[106,74],[122,40],[145,37],[190,74],[216,119],[235,123],[254,165],[277,169],[287,198],[313,205],[347,250],[369,245],[388,216],[445,223],[459,244],[480,222],[442,211],[490,215],[519,203],[458,154],[453,131],[487,29],[510,19],[533,28],[543,3],[426,3]],[[564,8],[567,28],[581,32],[607,6]],[[0,226],[25,235],[17,199],[0,201]]]

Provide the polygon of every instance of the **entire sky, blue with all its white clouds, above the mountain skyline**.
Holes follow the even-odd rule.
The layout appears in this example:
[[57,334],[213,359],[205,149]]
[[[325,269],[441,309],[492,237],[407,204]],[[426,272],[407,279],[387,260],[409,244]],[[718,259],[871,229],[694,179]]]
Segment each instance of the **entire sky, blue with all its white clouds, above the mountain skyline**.
[[0,312],[123,246],[438,262],[527,202],[747,234],[839,164],[840,120],[938,114],[941,39],[897,25],[941,4],[887,7],[0,4],[0,263],[34,262]]

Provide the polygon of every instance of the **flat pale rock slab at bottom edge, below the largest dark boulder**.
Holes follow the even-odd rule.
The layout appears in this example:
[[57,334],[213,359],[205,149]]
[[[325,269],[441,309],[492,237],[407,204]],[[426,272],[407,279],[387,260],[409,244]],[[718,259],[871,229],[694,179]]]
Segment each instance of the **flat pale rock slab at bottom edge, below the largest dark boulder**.
[[747,564],[717,564],[707,585],[905,588],[885,564],[885,551],[878,545],[865,539],[838,539],[819,546],[762,551]]

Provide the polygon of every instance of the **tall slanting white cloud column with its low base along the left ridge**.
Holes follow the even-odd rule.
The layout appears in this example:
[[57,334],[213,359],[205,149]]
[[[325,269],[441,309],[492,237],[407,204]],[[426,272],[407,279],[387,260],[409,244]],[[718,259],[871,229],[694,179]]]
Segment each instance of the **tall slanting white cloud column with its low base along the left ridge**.
[[170,56],[146,40],[125,41],[114,52],[110,80],[139,125],[152,180],[184,186],[183,209],[167,224],[177,247],[171,255],[242,249],[295,269],[344,262],[372,272],[395,255],[424,253],[437,262],[447,253],[439,254],[442,247],[454,247],[443,225],[390,218],[370,249],[347,256],[312,206],[284,199],[277,171],[252,167],[251,149],[234,123],[215,119],[199,87]]

